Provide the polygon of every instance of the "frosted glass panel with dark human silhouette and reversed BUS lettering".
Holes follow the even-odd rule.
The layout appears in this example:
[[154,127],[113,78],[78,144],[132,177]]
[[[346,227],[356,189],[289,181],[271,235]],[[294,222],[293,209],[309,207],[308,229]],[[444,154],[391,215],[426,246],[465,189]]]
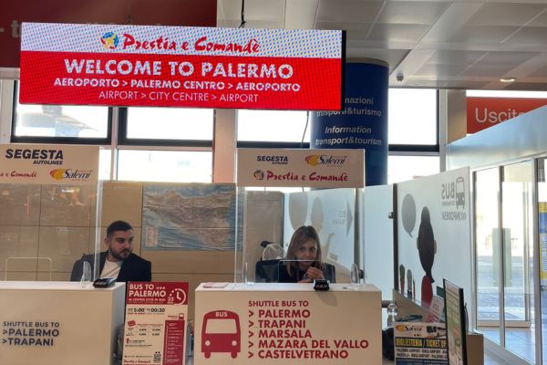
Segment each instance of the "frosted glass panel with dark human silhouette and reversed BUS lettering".
[[426,308],[443,277],[471,297],[470,205],[469,168],[397,184],[399,290]]

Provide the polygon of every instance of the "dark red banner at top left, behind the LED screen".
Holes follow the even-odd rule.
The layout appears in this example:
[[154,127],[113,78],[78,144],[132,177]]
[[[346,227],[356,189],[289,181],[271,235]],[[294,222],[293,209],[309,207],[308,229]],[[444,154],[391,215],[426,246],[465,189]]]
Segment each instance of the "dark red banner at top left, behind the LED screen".
[[2,2],[0,68],[19,67],[21,24],[99,23],[216,26],[216,0],[25,0]]

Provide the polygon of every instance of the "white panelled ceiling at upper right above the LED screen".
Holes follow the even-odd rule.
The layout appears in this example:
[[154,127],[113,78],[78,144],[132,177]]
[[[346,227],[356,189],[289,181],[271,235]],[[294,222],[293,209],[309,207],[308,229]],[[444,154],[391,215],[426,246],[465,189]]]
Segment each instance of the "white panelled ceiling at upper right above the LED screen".
[[[217,2],[217,26],[239,26],[242,0]],[[547,0],[245,0],[244,15],[345,29],[346,57],[386,61],[390,87],[547,90]]]

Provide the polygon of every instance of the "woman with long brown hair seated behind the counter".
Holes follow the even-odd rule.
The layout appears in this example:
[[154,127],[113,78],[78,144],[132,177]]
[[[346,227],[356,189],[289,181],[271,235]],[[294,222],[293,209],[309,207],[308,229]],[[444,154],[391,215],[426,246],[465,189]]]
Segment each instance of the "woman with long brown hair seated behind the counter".
[[279,266],[279,283],[313,283],[325,278],[319,235],[313,226],[303,225],[294,231],[281,263],[284,265]]

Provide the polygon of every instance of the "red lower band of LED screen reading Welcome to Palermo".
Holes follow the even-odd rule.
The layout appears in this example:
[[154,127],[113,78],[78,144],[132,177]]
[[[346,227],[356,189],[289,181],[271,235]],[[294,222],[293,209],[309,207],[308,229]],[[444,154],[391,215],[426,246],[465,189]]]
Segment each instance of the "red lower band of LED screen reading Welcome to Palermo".
[[341,110],[339,58],[21,52],[21,103]]

